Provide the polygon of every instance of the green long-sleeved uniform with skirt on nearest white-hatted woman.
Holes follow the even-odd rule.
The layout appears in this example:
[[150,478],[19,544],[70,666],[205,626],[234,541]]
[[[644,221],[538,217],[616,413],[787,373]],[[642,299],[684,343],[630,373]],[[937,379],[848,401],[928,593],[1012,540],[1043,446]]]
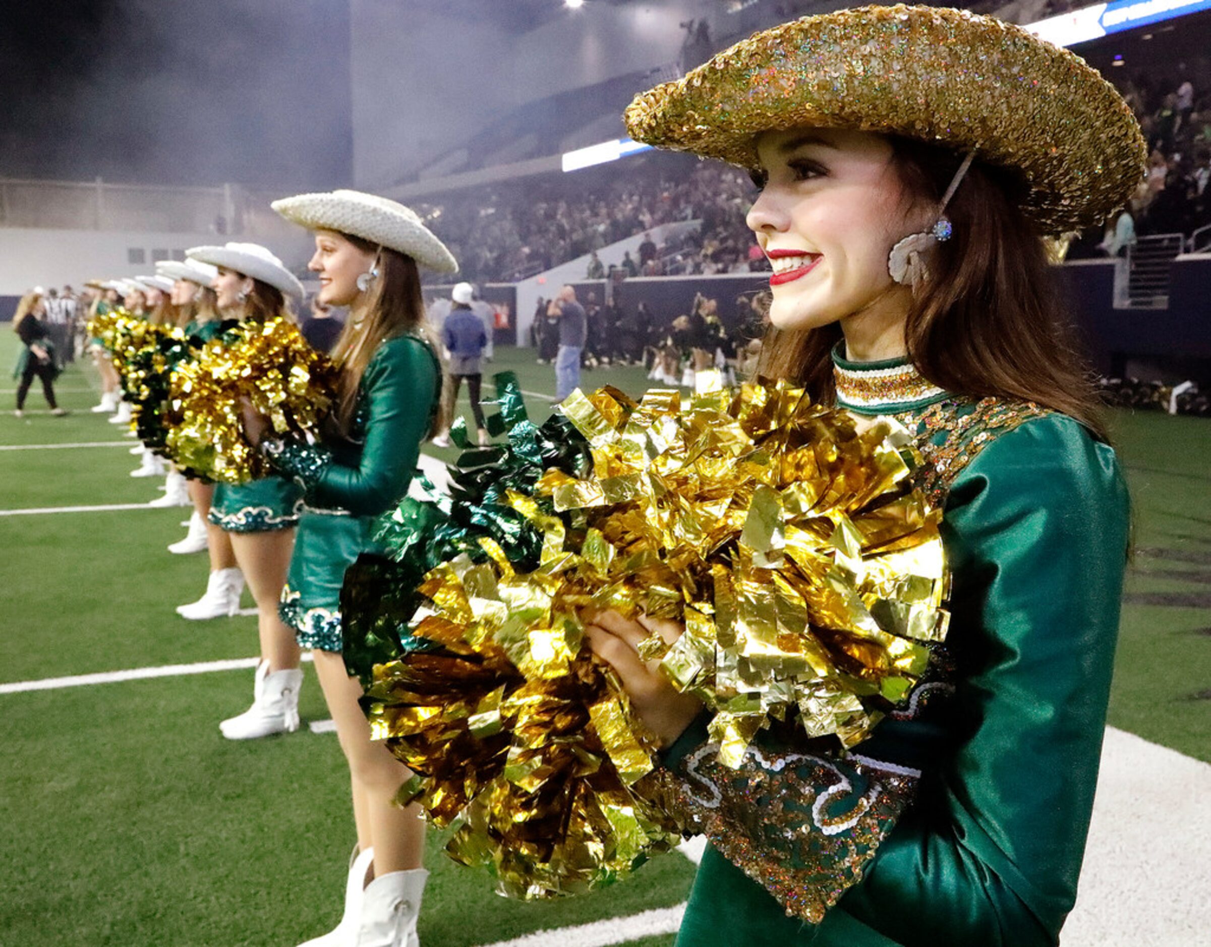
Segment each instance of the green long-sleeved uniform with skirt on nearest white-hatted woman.
[[299,644],[339,652],[345,569],[377,549],[375,517],[407,494],[441,394],[441,366],[413,335],[384,342],[362,375],[349,440],[268,442],[275,466],[305,490],[291,572],[279,608]]

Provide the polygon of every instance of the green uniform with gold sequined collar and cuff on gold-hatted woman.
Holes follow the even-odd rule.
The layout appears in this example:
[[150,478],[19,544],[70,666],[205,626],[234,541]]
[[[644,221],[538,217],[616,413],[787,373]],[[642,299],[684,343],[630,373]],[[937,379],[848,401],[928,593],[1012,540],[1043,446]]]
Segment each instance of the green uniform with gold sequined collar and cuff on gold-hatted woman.
[[[842,407],[917,432],[918,484],[945,504],[949,635],[909,706],[849,756],[758,740],[725,770],[701,719],[670,748],[677,802],[711,840],[677,943],[1055,945],[1118,635],[1114,450],[1034,404],[952,397],[902,361],[834,363]],[[834,901],[808,920],[807,902]]]

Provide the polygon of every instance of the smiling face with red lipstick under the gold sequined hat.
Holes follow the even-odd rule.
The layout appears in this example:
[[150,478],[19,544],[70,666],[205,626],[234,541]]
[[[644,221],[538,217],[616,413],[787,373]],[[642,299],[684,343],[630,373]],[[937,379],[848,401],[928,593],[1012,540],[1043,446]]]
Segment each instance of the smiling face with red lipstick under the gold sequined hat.
[[929,228],[931,208],[909,208],[882,136],[793,128],[757,142],[764,186],[747,223],[770,260],[770,321],[780,329],[842,321],[901,325],[911,292],[888,274],[891,247]]

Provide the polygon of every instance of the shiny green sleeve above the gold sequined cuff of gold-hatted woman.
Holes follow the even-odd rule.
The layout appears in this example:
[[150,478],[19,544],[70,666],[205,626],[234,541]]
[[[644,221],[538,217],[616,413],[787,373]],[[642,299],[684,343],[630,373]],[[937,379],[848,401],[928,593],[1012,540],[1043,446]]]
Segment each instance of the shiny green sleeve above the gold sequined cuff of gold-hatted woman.
[[955,750],[838,908],[903,943],[1052,945],[1118,636],[1129,500],[1114,452],[1069,418],[1029,421],[959,476],[943,530]]

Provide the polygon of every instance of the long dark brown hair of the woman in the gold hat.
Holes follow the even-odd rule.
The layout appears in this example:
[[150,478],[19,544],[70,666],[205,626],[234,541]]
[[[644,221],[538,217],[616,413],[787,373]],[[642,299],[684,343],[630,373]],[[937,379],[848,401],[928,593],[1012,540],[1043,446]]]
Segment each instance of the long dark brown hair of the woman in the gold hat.
[[[908,195],[936,205],[960,156],[925,142],[889,140]],[[1108,441],[1046,249],[1021,212],[1023,195],[1012,172],[972,162],[946,208],[953,236],[932,251],[930,279],[909,305],[908,357],[928,380],[955,395],[1033,401]],[[762,372],[793,379],[816,401],[833,403],[831,351],[842,338],[838,323],[773,329]]]

